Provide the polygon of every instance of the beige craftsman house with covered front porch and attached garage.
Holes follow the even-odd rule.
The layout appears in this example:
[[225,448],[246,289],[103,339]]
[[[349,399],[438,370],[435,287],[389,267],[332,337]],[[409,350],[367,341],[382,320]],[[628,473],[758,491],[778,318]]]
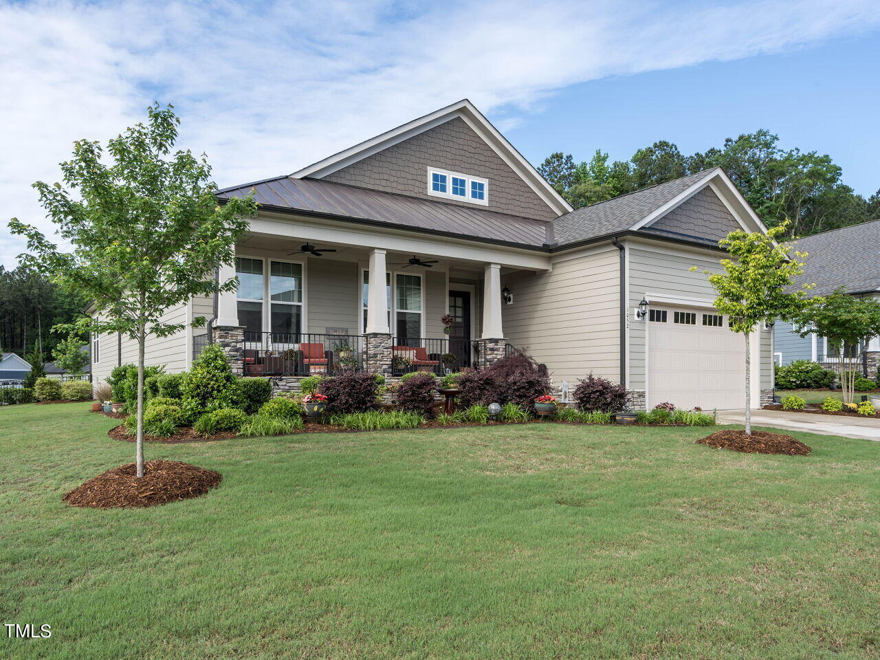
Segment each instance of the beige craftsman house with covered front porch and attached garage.
[[[238,373],[290,390],[340,368],[479,367],[512,346],[557,388],[592,372],[635,408],[711,409],[744,405],[748,350],[752,404],[772,396],[771,333],[746,346],[700,272],[731,230],[764,231],[721,169],[573,210],[462,100],[217,195],[250,191],[259,216],[220,269],[238,291],[169,311],[208,327],[150,338],[149,363],[185,370],[217,341]],[[96,381],[136,358],[134,342],[93,340]]]

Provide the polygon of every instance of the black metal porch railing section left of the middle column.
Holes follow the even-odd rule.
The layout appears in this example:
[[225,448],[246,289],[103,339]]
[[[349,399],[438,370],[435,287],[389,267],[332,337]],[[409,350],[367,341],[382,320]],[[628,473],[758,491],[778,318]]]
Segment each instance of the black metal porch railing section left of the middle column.
[[362,371],[363,335],[245,332],[246,376],[309,376]]

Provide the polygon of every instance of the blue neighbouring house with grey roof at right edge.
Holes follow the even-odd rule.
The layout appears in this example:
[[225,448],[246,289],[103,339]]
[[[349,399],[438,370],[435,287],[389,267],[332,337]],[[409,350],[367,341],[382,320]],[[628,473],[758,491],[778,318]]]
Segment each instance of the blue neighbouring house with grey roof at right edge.
[[[798,252],[809,254],[799,283],[816,284],[810,295],[824,296],[843,289],[852,296],[880,297],[880,220],[825,231],[801,238],[794,245]],[[863,375],[876,378],[880,338],[869,338],[861,346],[844,350],[859,354]],[[774,326],[774,361],[790,364],[795,360],[812,360],[829,369],[840,366],[840,355],[828,347],[824,337],[816,333],[802,337],[790,323],[779,321]]]

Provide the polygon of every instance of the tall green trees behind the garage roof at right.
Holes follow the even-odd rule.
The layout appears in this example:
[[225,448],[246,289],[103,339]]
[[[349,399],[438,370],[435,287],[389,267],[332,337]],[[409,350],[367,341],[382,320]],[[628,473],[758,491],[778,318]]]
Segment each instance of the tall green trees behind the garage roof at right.
[[830,156],[781,149],[779,137],[763,128],[729,137],[721,148],[692,156],[660,141],[637,150],[627,161],[611,163],[602,150],[583,163],[557,151],[538,169],[579,209],[712,167],[727,172],[767,226],[788,219],[790,237],[880,218],[880,190],[865,199],[840,180],[840,165],[834,165]]

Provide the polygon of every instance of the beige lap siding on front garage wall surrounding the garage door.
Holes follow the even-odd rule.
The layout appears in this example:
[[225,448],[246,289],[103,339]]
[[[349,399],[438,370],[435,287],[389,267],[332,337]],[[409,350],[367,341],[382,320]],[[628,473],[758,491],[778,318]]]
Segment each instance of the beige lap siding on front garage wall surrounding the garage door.
[[[658,245],[654,247],[629,242],[628,287],[629,305],[629,388],[642,390],[645,387],[645,327],[646,324],[633,320],[634,308],[642,297],[655,296],[691,298],[694,300],[715,299],[715,289],[708,282],[703,270],[718,272],[721,269],[718,253],[709,250],[683,250],[675,246]],[[697,270],[692,272],[691,267]],[[686,305],[686,303],[683,303]],[[761,342],[761,388],[773,386],[773,356],[771,352],[771,333],[760,330]]]

